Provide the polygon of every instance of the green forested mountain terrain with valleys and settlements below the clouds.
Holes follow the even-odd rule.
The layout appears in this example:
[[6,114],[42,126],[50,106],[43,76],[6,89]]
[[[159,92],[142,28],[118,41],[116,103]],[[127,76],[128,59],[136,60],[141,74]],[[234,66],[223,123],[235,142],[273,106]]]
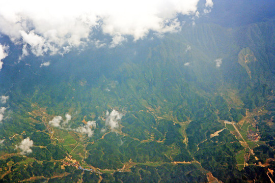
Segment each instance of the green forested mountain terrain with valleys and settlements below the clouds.
[[186,24],[113,49],[8,56],[0,181],[274,181],[274,28]]

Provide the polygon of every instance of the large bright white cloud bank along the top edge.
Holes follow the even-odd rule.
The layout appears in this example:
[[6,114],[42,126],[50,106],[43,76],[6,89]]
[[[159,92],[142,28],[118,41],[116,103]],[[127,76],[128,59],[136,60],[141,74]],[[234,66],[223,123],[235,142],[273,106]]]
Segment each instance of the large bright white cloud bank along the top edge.
[[[143,39],[150,31],[178,31],[178,15],[199,17],[199,0],[10,0],[0,6],[0,32],[22,44],[22,56],[56,54],[85,45],[94,30],[113,38],[111,47],[127,40]],[[53,6],[54,5],[54,6]],[[66,5],[66,8],[64,6]],[[212,7],[206,0],[206,7]],[[103,46],[104,44],[99,44]]]

